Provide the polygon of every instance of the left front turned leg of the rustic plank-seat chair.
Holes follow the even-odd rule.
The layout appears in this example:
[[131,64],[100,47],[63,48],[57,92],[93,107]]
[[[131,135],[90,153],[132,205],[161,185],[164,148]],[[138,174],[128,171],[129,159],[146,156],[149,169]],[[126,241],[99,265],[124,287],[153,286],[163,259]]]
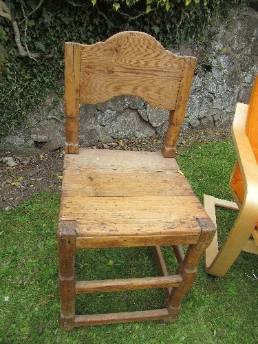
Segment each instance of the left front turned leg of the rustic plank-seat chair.
[[61,328],[74,328],[76,222],[63,221],[58,228]]

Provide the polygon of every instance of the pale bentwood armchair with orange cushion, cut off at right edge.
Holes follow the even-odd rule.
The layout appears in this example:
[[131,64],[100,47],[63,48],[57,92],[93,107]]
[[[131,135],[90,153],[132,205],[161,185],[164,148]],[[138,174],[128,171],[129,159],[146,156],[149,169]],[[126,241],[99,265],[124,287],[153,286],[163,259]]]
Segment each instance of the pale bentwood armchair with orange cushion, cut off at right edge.
[[230,178],[230,191],[236,203],[204,195],[204,208],[215,225],[215,206],[239,211],[222,248],[218,248],[217,233],[206,248],[206,271],[217,276],[226,274],[241,251],[258,254],[258,75],[249,106],[237,104],[232,129],[237,162]]

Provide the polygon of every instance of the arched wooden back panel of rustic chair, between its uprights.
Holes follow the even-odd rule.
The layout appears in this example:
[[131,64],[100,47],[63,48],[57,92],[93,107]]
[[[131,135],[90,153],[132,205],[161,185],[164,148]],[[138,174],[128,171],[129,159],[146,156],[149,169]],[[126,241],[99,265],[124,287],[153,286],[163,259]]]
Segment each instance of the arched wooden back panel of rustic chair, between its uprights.
[[105,42],[81,45],[80,102],[103,103],[138,96],[153,107],[175,109],[185,61],[142,32],[122,32]]

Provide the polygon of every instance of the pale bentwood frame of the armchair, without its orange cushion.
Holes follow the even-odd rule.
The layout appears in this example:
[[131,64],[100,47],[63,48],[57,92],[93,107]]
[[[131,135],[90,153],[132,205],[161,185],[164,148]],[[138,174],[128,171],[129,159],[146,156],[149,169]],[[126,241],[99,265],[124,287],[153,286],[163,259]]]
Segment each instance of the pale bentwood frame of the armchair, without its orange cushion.
[[217,235],[215,235],[211,246],[206,249],[206,272],[219,277],[226,275],[226,272],[233,265],[242,250],[258,254],[255,240],[250,239],[250,235],[256,237],[255,227],[258,221],[258,166],[246,135],[247,118],[248,105],[237,103],[232,129],[237,153],[237,164],[240,166],[244,182],[245,195],[243,202],[240,202],[231,184],[230,191],[233,197],[235,197],[237,204],[209,195],[205,195],[204,199],[206,211],[213,219],[213,222],[216,221],[215,205],[239,211],[239,215],[222,247],[218,250]]

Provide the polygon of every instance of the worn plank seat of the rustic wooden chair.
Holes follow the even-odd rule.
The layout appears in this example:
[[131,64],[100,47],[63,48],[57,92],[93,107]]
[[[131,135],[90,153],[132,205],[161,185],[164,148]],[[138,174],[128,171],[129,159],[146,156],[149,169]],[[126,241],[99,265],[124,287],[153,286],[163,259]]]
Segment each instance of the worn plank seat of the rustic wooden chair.
[[178,164],[161,153],[65,156],[60,220],[76,220],[80,237],[197,235],[197,217],[205,216]]

